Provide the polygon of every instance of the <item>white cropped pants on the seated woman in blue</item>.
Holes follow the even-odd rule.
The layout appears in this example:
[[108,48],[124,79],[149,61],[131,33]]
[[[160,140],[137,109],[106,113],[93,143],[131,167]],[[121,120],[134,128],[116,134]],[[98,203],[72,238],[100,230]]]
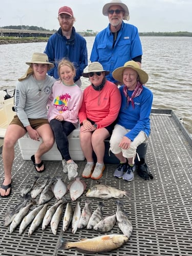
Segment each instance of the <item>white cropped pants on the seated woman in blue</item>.
[[130,132],[131,130],[126,129],[125,127],[116,124],[110,139],[110,150],[113,154],[119,154],[122,152],[123,157],[125,158],[134,158],[136,156],[137,147],[147,140],[146,134],[141,131],[134,141],[131,142],[130,148],[128,150],[123,150],[119,147],[119,143],[122,140],[123,136]]

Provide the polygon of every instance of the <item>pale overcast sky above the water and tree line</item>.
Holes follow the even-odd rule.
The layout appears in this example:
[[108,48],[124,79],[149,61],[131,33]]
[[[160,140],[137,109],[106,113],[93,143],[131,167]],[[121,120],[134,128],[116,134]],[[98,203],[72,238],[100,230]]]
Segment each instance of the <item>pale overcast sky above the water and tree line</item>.
[[[58,9],[73,10],[76,31],[101,31],[109,24],[102,14],[111,0],[1,0],[0,27],[10,25],[37,26],[57,30]],[[192,32],[191,0],[122,0],[130,12],[127,23],[139,32]]]

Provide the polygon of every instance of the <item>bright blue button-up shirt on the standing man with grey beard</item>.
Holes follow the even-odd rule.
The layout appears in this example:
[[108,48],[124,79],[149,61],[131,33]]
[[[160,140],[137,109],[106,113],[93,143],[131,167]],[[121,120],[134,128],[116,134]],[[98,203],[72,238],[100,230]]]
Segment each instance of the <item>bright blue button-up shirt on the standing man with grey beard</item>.
[[142,55],[142,46],[138,29],[122,22],[115,46],[113,48],[113,34],[110,31],[110,24],[95,37],[90,60],[98,61],[104,70],[111,73],[106,78],[112,82],[117,82],[112,72],[124,65],[126,61]]

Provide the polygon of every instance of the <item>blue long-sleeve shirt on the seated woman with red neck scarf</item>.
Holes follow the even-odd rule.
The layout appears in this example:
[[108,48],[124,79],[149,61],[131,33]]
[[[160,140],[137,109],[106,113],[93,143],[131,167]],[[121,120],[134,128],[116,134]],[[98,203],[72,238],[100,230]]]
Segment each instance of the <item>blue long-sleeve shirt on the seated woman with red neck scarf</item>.
[[[133,108],[131,102],[127,105],[127,100],[123,93],[123,86],[119,88],[119,91],[121,93],[121,108],[117,123],[131,130],[124,136],[133,141],[135,137],[143,131],[148,137],[150,135],[150,113],[153,103],[152,92],[150,89],[143,86],[141,94],[133,98],[135,105]],[[128,91],[130,97],[133,92],[134,91]]]

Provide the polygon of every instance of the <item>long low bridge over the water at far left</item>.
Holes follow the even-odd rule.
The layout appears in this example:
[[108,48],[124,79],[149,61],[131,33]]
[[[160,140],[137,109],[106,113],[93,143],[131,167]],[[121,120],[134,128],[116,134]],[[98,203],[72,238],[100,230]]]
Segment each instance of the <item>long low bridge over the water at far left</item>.
[[15,37],[50,37],[55,31],[38,31],[38,30],[22,30],[22,29],[2,29],[0,28],[0,36]]

